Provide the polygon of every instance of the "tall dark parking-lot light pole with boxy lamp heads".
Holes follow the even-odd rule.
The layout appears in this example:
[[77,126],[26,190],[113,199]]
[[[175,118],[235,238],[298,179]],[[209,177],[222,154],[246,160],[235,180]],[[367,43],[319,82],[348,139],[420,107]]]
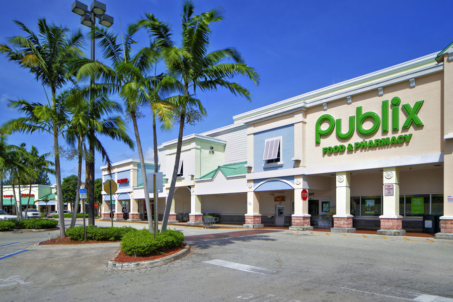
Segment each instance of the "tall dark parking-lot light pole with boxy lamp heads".
[[[105,27],[110,27],[113,24],[113,17],[105,14],[105,4],[99,1],[93,1],[88,10],[88,6],[79,2],[74,1],[71,6],[71,12],[81,16],[80,23],[91,28],[91,60],[95,60],[95,34],[94,28],[96,25],[96,18],[99,19],[99,24]],[[94,84],[94,77],[91,77],[90,84]],[[93,91],[90,91],[90,99],[93,100]],[[89,131],[92,131],[90,129]],[[90,150],[93,148],[90,143]],[[94,173],[94,161],[89,163],[89,171]],[[89,224],[94,224],[94,177],[89,179],[89,192],[88,192],[88,221]]]

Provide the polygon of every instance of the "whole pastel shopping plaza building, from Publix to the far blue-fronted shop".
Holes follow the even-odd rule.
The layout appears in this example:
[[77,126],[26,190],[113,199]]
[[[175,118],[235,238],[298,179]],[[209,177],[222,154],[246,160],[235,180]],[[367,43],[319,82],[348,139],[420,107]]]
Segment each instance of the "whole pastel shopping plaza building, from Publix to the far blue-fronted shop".
[[[183,138],[170,220],[197,224],[209,213],[249,228],[402,235],[421,232],[423,216],[434,214],[440,232],[453,236],[452,113],[453,43],[239,114]],[[161,217],[175,156],[176,140],[159,146]],[[146,218],[139,161],[101,169],[103,181],[118,182],[115,217],[125,205],[130,219]],[[145,169],[152,173],[153,163]]]

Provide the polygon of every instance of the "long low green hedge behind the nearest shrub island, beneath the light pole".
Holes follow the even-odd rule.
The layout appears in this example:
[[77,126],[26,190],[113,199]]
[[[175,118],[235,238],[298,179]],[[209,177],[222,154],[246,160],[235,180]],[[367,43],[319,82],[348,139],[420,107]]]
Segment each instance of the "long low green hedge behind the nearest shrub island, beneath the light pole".
[[[130,226],[107,226],[105,228],[96,228],[96,226],[89,225],[87,226],[87,240],[94,241],[115,241],[121,240],[123,235],[128,232],[137,231]],[[72,229],[66,230],[66,235],[69,236],[72,240],[82,241],[84,240],[84,227],[83,225],[76,226]]]

